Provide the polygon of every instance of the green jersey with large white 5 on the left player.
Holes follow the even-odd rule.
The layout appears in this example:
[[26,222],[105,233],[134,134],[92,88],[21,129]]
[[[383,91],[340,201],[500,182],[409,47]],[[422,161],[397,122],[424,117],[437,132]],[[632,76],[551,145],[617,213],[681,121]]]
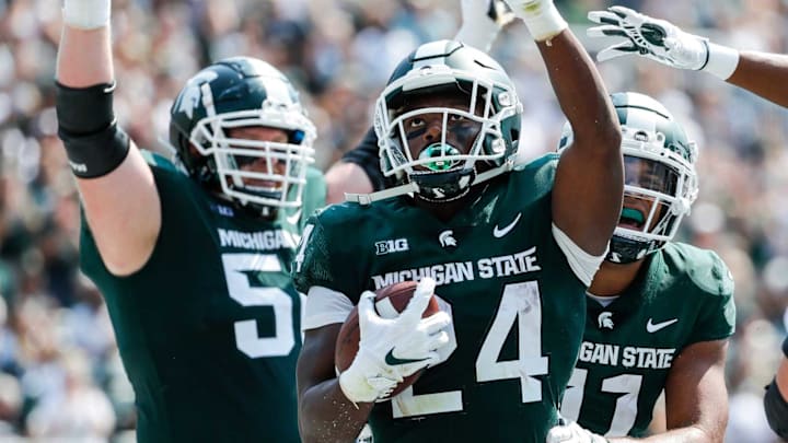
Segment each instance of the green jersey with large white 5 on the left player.
[[[138,441],[298,442],[301,296],[289,270],[300,212],[264,221],[148,160],[162,225],[142,269],[115,277],[85,223],[81,240],[135,389]],[[308,213],[325,199],[322,178],[310,183]]]

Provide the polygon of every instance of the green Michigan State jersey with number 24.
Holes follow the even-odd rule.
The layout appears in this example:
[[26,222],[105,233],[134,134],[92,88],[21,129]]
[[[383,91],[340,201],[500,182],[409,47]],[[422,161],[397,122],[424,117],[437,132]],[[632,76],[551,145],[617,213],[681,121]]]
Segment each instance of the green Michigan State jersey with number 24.
[[357,304],[364,290],[429,276],[453,317],[442,363],[373,408],[376,443],[545,441],[586,312],[586,284],[552,231],[556,159],[489,183],[448,222],[405,197],[332,206],[308,222],[293,264],[300,291],[323,287]]

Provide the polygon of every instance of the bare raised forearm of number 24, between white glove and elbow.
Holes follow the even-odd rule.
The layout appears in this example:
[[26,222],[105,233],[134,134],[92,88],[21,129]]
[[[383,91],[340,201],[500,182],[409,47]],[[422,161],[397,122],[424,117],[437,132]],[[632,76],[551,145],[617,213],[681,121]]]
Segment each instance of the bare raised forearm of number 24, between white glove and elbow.
[[588,140],[580,144],[618,152],[618,119],[593,61],[577,37],[566,30],[536,46],[575,140]]

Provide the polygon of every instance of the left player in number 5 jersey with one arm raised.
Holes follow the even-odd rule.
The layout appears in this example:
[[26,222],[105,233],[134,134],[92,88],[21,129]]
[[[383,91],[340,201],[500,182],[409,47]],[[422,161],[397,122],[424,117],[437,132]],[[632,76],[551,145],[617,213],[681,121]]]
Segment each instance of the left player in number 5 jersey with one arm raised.
[[[139,442],[298,442],[301,213],[323,206],[315,128],[270,65],[217,61],[170,115],[172,160],[113,112],[109,0],[66,0],[59,136],[83,208],[80,259],[109,311]],[[303,212],[302,212],[303,211]]]

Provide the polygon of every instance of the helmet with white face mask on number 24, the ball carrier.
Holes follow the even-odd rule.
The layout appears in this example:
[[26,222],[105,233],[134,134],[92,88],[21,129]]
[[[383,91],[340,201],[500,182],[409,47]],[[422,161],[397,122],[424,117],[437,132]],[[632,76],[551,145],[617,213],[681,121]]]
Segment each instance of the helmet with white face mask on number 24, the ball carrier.
[[487,55],[452,40],[422,45],[375,105],[381,170],[415,184],[417,198],[456,200],[517,152],[521,114],[511,80]]

